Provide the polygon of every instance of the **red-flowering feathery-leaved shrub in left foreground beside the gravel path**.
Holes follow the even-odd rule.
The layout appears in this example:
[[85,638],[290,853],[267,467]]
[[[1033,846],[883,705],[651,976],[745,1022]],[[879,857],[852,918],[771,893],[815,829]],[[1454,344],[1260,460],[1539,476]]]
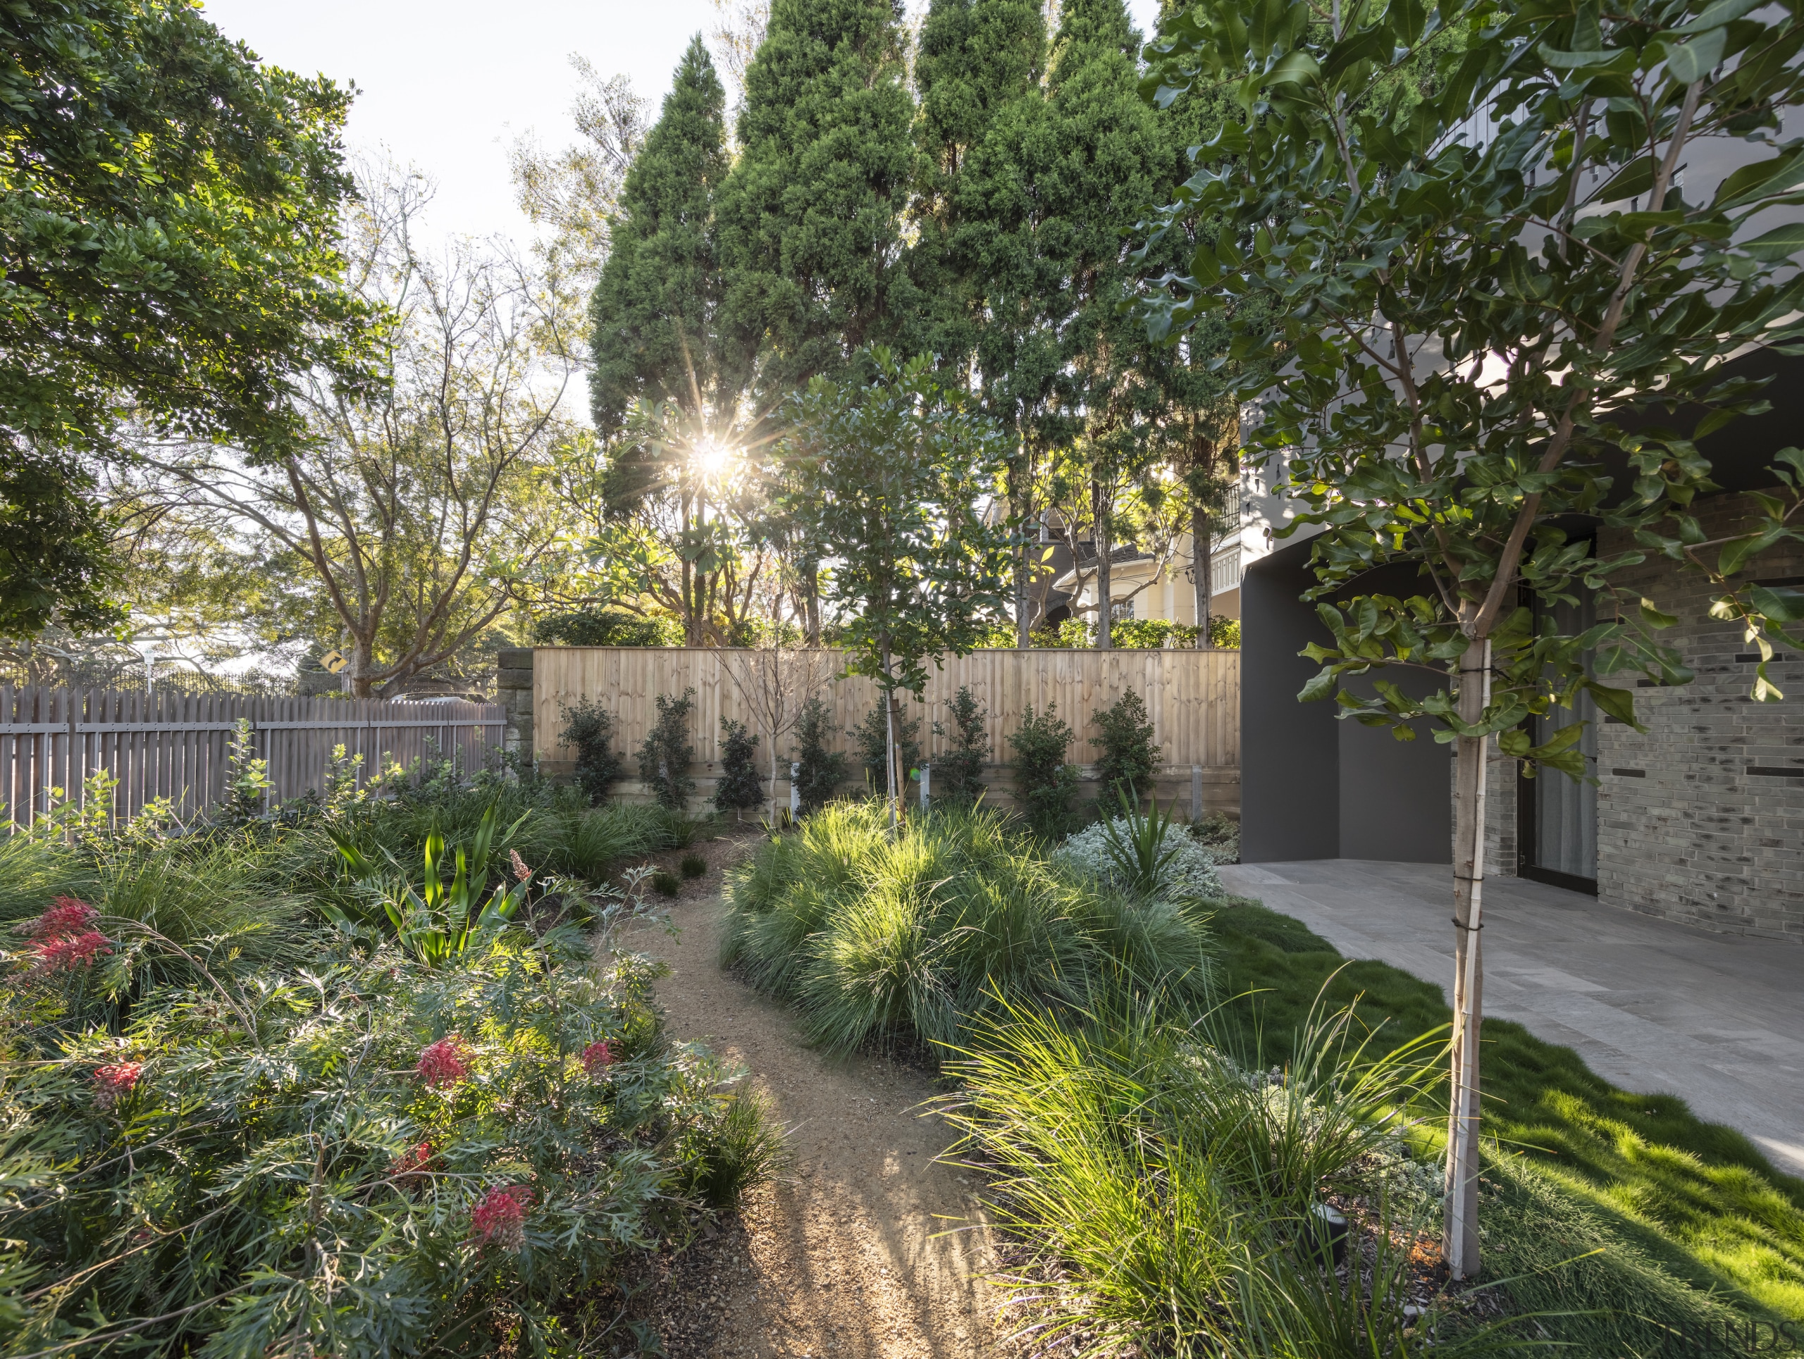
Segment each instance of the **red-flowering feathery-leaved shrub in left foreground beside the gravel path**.
[[772,1164],[653,964],[575,928],[435,968],[321,934],[79,1031],[36,943],[0,944],[7,1354],[637,1352],[633,1258]]

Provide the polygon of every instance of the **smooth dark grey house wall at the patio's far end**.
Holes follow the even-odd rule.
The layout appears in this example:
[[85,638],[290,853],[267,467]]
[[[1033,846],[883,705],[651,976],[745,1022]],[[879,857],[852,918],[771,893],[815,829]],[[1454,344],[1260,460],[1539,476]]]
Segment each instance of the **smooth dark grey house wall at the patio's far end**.
[[[1299,656],[1328,643],[1315,606],[1310,544],[1254,562],[1241,580],[1241,860],[1369,858],[1447,863],[1452,822],[1449,753],[1427,732],[1398,741],[1385,728],[1337,721],[1333,703],[1297,703],[1315,674]],[[1358,593],[1416,593],[1411,568],[1375,571]],[[1349,589],[1351,593],[1351,589]],[[1405,692],[1434,676],[1393,670]]]

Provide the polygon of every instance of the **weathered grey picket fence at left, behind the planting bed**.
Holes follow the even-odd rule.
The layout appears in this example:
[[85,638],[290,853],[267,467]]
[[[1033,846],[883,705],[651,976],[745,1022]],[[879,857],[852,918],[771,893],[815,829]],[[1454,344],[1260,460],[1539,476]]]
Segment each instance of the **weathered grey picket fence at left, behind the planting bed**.
[[267,762],[265,804],[323,791],[334,746],[363,755],[359,780],[388,762],[444,757],[473,773],[502,744],[502,710],[489,703],[130,694],[0,685],[0,802],[23,829],[60,800],[83,800],[105,770],[117,779],[115,820],[166,797],[188,818],[226,795],[231,735],[251,723],[254,759]]

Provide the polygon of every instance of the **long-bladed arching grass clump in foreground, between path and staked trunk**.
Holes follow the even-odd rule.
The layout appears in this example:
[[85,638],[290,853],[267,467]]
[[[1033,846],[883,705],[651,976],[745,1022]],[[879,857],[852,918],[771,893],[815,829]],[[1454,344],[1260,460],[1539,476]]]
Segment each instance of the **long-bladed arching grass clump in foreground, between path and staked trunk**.
[[[1021,1254],[1007,1280],[1039,1350],[1091,1355],[1407,1359],[1434,1319],[1405,1314],[1422,1195],[1385,1199],[1394,1155],[1380,1110],[1425,1074],[1411,1056],[1367,1062],[1346,1015],[1317,1011],[1270,1080],[1169,1022],[1158,1002],[1082,1024],[1007,1006],[947,1062],[963,1092],[945,1114],[990,1177],[990,1220]],[[1313,1206],[1376,1190],[1380,1229],[1326,1267]],[[1394,1215],[1393,1215],[1394,1213]],[[1497,1348],[1468,1328],[1436,1354]],[[1063,1352],[1063,1350],[1061,1350]]]

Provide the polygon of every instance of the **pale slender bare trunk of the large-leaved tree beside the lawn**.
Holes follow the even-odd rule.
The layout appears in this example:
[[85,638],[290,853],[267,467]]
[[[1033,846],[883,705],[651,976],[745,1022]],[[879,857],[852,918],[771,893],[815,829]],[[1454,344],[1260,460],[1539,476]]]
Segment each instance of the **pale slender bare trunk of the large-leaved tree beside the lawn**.
[[[1490,640],[1459,658],[1459,721],[1477,725],[1490,701]],[[1447,1114],[1447,1209],[1441,1249],[1449,1272],[1472,1278],[1477,1249],[1479,1026],[1483,968],[1479,930],[1485,889],[1485,759],[1490,739],[1458,737],[1454,748],[1454,1042]]]

